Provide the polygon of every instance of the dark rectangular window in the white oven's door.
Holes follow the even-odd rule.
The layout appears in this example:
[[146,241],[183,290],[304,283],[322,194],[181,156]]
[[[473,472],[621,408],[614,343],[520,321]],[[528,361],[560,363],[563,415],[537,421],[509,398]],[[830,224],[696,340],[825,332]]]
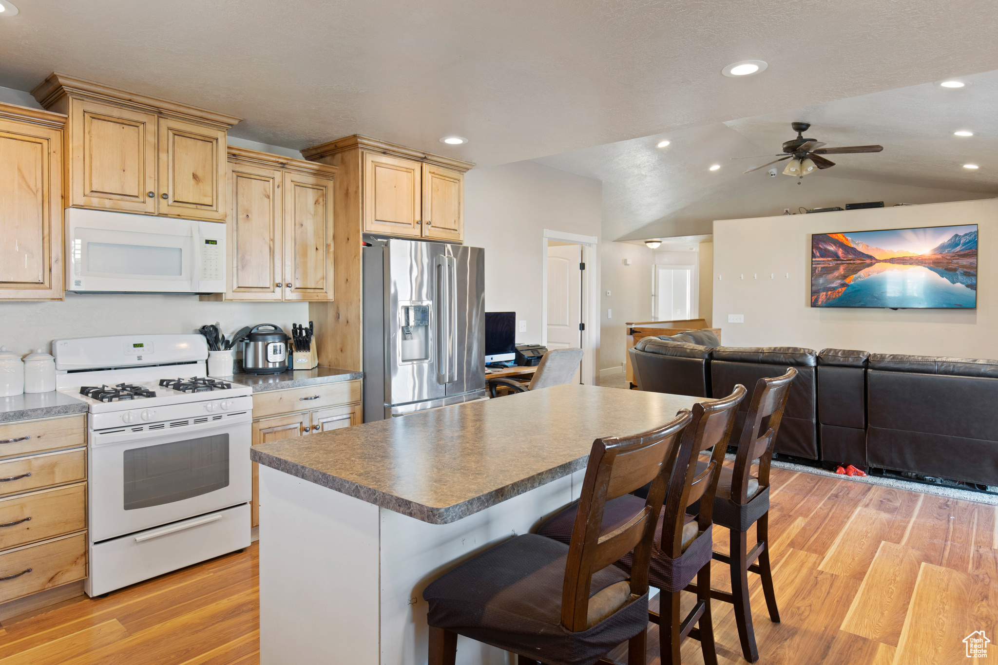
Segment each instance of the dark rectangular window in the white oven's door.
[[125,451],[125,509],[207,495],[229,486],[229,435]]

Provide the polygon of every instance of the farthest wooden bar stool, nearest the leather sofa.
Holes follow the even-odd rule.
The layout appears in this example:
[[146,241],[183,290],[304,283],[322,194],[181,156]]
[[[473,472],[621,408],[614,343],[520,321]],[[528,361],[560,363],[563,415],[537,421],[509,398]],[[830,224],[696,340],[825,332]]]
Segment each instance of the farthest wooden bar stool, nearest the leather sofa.
[[[749,402],[749,413],[739,441],[735,468],[721,471],[718,494],[714,500],[714,523],[729,529],[731,543],[728,554],[714,552],[714,558],[728,563],[732,569],[732,592],[711,589],[711,597],[735,605],[735,622],[739,628],[742,654],[749,663],[758,660],[755,633],[751,625],[749,604],[749,572],[762,579],[762,593],[769,610],[769,619],[779,623],[776,594],[769,569],[769,464],[772,447],[779,432],[790,383],[797,372],[792,367],[786,374],[771,379],[759,379]],[[762,431],[764,434],[757,436]],[[758,476],[750,476],[752,462],[758,461]],[[713,460],[711,464],[714,464]],[[701,462],[698,469],[706,469]],[[748,531],[755,524],[755,545],[747,552]],[[756,562],[757,561],[757,562]],[[698,586],[700,583],[698,582]]]

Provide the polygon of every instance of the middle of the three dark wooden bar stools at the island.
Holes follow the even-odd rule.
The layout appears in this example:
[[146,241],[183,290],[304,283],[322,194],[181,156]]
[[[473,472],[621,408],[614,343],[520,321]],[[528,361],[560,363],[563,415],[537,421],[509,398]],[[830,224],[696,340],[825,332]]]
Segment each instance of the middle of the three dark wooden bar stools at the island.
[[[680,646],[688,636],[700,640],[707,665],[718,662],[711,617],[712,512],[728,441],[745,395],[745,387],[739,385],[722,400],[694,405],[693,421],[683,434],[679,459],[656,528],[649,571],[650,584],[662,590],[661,612],[649,611],[649,620],[659,624],[664,665],[680,665]],[[698,457],[711,448],[714,449],[711,461],[701,468]],[[619,522],[618,513],[628,514],[635,505],[643,503],[643,499],[635,496],[609,501],[604,524]],[[700,506],[696,514],[687,513],[692,505]],[[576,510],[575,505],[569,506],[541,524],[537,532],[564,542],[570,533],[568,525],[576,518]],[[617,561],[617,565],[631,570],[634,560],[634,556],[628,554]],[[691,584],[695,578],[697,583]],[[686,617],[680,609],[681,591],[697,594],[697,602]]]

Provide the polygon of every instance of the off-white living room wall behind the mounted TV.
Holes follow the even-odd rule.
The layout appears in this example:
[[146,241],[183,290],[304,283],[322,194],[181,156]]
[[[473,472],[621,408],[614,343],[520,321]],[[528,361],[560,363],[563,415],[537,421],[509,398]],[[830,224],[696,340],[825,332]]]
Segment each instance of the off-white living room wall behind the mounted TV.
[[[976,310],[809,306],[812,233],[949,224],[979,224]],[[714,222],[714,321],[723,329],[726,346],[995,358],[996,260],[996,199],[718,220]],[[787,272],[789,278],[784,276]],[[775,279],[769,279],[770,273]],[[758,278],[753,279],[753,274]],[[745,323],[728,323],[729,314],[745,314]]]

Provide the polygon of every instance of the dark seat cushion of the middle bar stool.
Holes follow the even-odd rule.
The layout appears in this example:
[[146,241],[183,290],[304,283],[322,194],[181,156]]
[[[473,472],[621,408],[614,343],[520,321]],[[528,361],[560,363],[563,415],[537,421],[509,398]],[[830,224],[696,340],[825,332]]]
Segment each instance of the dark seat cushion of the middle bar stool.
[[[610,532],[624,524],[644,505],[645,499],[634,495],[624,495],[607,501],[603,508],[602,532]],[[538,535],[544,535],[560,542],[568,542],[572,539],[572,527],[575,524],[577,509],[578,504],[572,503],[541,524],[540,528],[537,529]],[[691,515],[687,515],[687,522],[683,525],[683,554],[679,558],[672,558],[661,548],[664,521],[664,516],[660,515],[659,523],[655,527],[655,540],[652,543],[652,561],[648,576],[649,583],[663,591],[682,591],[696,577],[697,571],[711,560],[713,528],[708,526],[707,530],[698,534],[696,520]],[[622,570],[630,572],[633,562],[634,553],[628,552],[616,562],[616,565]]]

